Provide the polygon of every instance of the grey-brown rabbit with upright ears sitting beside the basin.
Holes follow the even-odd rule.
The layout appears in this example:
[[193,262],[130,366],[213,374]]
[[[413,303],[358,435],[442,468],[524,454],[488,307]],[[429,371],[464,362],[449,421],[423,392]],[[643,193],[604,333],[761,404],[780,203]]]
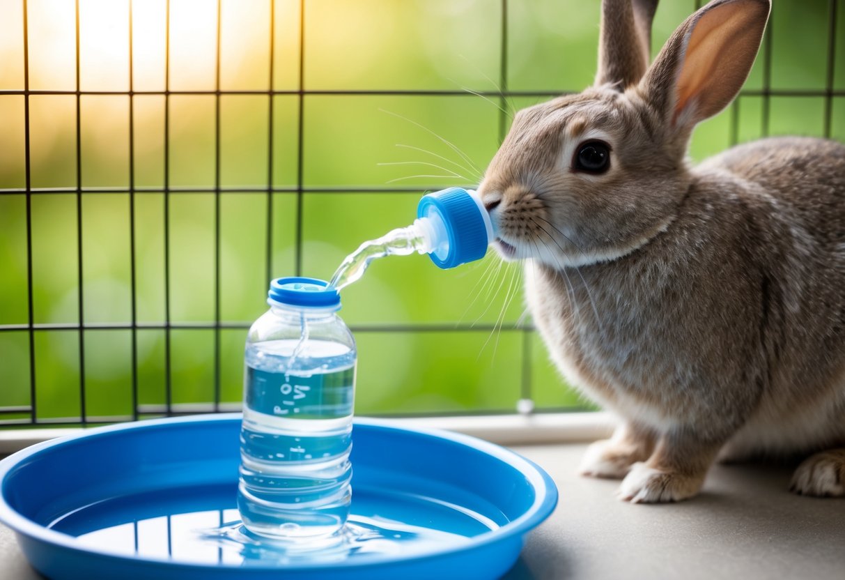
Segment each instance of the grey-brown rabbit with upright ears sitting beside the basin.
[[845,495],[845,146],[769,138],[691,167],[770,2],[706,4],[649,66],[656,8],[603,0],[595,84],[517,112],[477,190],[553,362],[622,419],[581,473],[680,501],[720,453],[801,453],[794,491]]

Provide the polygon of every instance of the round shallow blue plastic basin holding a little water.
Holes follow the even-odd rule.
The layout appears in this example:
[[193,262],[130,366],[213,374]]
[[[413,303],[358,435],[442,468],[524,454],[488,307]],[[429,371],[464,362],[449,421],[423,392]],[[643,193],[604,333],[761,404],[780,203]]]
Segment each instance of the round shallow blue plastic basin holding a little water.
[[[235,505],[240,422],[239,414],[157,419],[19,451],[0,462],[0,521],[17,533],[32,566],[54,580],[469,580],[507,572],[558,498],[548,474],[512,451],[356,419],[352,513],[441,529],[460,542],[337,562],[180,559],[169,535],[179,514],[219,510],[222,517]],[[165,521],[167,551],[139,550],[139,529]],[[134,530],[134,549],[112,545],[121,530]],[[96,531],[109,541],[84,541]]]

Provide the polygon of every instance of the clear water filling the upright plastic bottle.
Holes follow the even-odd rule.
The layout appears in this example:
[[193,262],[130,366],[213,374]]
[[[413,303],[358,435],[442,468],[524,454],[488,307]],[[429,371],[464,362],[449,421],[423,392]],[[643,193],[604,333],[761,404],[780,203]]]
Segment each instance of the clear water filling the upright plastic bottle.
[[237,495],[248,530],[316,546],[346,523],[354,378],[355,353],[343,344],[248,345]]

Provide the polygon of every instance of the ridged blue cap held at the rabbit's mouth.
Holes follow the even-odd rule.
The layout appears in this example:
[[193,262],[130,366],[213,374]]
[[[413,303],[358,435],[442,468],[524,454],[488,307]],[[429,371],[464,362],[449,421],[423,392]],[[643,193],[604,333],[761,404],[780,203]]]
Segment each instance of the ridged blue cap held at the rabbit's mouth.
[[423,195],[417,205],[417,217],[438,213],[449,237],[449,251],[445,257],[428,254],[441,268],[454,268],[487,254],[489,244],[487,225],[482,210],[466,189],[449,188]]

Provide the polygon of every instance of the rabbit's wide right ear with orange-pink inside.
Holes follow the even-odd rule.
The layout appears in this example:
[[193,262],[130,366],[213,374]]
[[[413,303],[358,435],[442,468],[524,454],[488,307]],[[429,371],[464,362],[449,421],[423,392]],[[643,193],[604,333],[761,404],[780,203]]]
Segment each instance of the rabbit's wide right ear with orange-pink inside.
[[770,0],[714,0],[666,41],[640,89],[673,128],[691,130],[737,95],[754,63]]

